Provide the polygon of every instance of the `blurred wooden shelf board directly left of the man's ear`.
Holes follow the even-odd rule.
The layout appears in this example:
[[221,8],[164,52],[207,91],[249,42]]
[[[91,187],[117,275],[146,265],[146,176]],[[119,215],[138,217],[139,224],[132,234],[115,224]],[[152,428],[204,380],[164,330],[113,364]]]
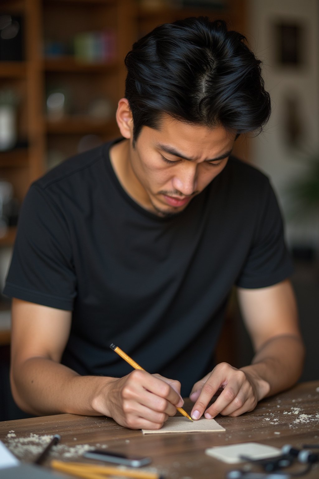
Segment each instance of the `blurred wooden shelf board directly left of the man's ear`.
[[67,135],[67,134],[89,134],[115,131],[114,121],[98,120],[89,116],[68,116],[62,120],[46,120],[46,129],[48,133]]

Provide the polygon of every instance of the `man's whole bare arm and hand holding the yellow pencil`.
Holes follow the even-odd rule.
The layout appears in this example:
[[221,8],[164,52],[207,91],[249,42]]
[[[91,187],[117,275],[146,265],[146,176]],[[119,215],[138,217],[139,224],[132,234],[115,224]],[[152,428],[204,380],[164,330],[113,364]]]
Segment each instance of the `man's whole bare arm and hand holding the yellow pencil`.
[[106,415],[132,429],[159,429],[182,405],[176,381],[145,371],[79,376],[60,364],[70,329],[70,311],[12,300],[11,389],[22,410]]

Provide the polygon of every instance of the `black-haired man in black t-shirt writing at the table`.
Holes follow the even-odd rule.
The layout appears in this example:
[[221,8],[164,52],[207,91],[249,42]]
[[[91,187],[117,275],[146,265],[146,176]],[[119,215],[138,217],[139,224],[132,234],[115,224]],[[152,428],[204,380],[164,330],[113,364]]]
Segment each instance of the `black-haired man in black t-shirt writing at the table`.
[[[157,429],[180,393],[195,420],[237,416],[297,381],[304,352],[278,205],[268,179],[231,158],[270,114],[243,40],[205,18],[157,27],[126,57],[122,138],[32,185],[4,291],[25,411]],[[213,358],[232,285],[255,348],[241,369]]]

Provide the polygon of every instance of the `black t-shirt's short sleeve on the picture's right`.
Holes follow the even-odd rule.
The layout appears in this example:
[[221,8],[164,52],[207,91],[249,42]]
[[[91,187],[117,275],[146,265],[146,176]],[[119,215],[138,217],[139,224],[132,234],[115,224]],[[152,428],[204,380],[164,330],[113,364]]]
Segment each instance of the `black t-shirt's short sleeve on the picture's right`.
[[282,215],[268,180],[261,194],[255,223],[252,244],[236,281],[236,285],[242,288],[271,286],[293,273]]

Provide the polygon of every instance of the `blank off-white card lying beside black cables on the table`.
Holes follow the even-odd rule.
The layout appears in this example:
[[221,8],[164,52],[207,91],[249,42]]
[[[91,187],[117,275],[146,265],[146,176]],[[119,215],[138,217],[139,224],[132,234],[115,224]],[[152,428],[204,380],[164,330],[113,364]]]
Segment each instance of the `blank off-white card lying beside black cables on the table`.
[[265,457],[280,456],[281,449],[259,443],[231,444],[227,446],[209,447],[205,454],[228,464],[245,462],[240,456],[247,456],[251,459],[264,459]]

